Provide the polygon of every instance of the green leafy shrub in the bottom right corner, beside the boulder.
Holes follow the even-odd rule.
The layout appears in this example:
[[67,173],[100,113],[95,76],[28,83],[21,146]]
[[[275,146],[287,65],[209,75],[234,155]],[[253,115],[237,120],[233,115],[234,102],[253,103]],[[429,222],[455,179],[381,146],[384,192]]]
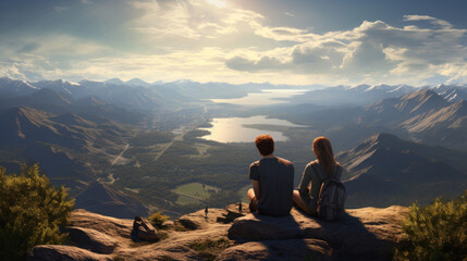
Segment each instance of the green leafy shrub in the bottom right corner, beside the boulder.
[[467,260],[467,190],[459,199],[410,207],[394,260]]

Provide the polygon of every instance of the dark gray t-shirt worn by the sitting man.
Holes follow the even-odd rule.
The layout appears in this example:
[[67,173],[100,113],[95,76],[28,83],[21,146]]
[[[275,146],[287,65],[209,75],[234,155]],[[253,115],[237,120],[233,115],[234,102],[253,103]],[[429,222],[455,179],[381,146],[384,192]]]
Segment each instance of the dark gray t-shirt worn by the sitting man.
[[249,165],[249,178],[259,181],[258,213],[286,215],[291,212],[294,165],[281,158],[261,159]]

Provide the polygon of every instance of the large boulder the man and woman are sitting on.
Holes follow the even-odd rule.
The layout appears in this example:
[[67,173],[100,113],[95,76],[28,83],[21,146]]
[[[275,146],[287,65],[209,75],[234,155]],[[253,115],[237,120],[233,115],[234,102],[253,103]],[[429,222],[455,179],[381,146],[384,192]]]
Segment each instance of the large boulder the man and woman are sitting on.
[[238,241],[316,238],[349,257],[391,257],[402,239],[401,221],[407,211],[400,206],[346,210],[335,222],[323,222],[295,209],[283,217],[248,214],[232,224],[228,236]]

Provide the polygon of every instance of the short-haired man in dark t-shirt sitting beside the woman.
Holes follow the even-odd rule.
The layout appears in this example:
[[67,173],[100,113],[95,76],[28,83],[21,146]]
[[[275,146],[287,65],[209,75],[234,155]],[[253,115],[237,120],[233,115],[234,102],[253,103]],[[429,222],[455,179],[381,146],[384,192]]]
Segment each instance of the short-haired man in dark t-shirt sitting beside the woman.
[[266,215],[286,215],[291,212],[294,186],[294,165],[274,157],[274,140],[269,135],[255,139],[261,160],[249,165],[253,188],[248,190],[251,212]]

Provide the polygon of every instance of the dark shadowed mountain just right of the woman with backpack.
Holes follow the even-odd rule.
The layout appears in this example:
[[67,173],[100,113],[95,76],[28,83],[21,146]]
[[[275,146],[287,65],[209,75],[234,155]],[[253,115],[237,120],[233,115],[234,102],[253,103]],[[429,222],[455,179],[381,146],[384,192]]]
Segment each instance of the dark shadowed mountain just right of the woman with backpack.
[[349,208],[428,203],[467,187],[467,152],[378,134],[339,154]]

